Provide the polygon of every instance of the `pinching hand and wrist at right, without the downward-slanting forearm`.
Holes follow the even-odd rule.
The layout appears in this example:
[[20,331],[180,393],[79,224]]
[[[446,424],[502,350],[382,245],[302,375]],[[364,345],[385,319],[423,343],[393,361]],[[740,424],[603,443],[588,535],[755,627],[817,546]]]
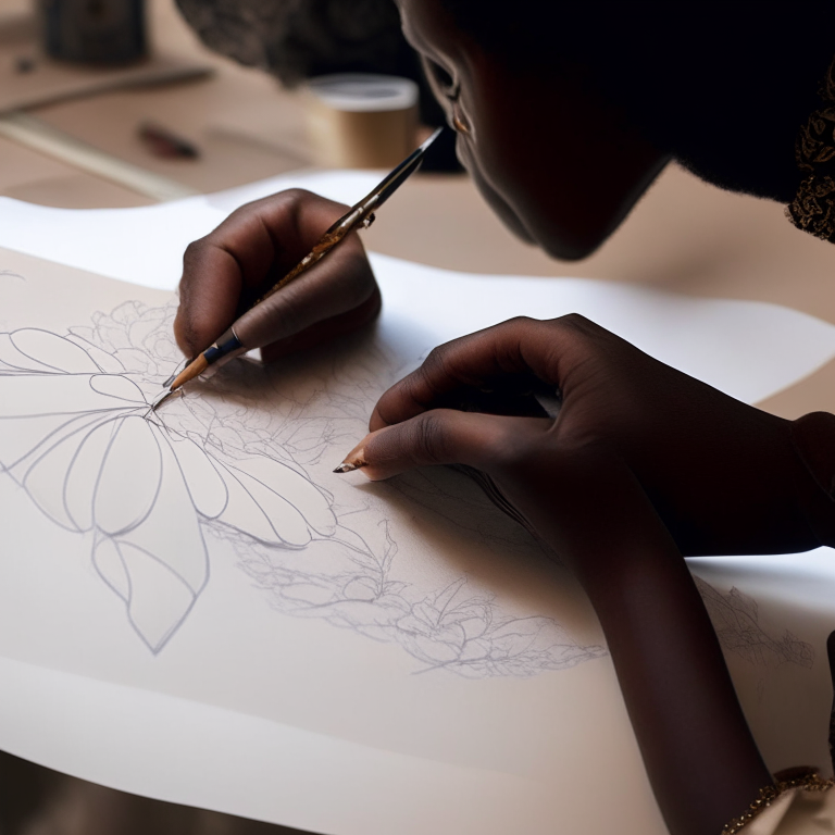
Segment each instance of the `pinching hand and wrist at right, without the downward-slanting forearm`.
[[[533,382],[561,391],[558,420],[444,408],[468,389]],[[805,513],[819,488],[790,427],[583,316],[516,319],[436,348],[381,398],[347,461],[361,450],[372,479],[471,465],[550,540],[554,490],[605,456],[640,485],[683,554],[788,552],[821,545]]]

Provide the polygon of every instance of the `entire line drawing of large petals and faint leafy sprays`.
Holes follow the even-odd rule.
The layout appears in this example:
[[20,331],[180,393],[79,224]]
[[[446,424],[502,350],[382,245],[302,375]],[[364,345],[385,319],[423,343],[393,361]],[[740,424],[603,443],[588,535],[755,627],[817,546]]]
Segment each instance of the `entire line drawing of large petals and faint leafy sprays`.
[[263,369],[239,362],[151,412],[182,360],[174,310],[130,301],[65,334],[0,334],[0,472],[89,538],[96,571],[153,653],[209,583],[213,540],[232,544],[278,611],[396,643],[420,671],[531,676],[606,653],[550,618],[508,615],[466,577],[418,588],[398,574],[385,518],[369,524],[367,502],[316,484],[312,471],[352,445],[394,378],[379,358],[312,375],[303,395],[271,390],[273,410],[253,407]]

